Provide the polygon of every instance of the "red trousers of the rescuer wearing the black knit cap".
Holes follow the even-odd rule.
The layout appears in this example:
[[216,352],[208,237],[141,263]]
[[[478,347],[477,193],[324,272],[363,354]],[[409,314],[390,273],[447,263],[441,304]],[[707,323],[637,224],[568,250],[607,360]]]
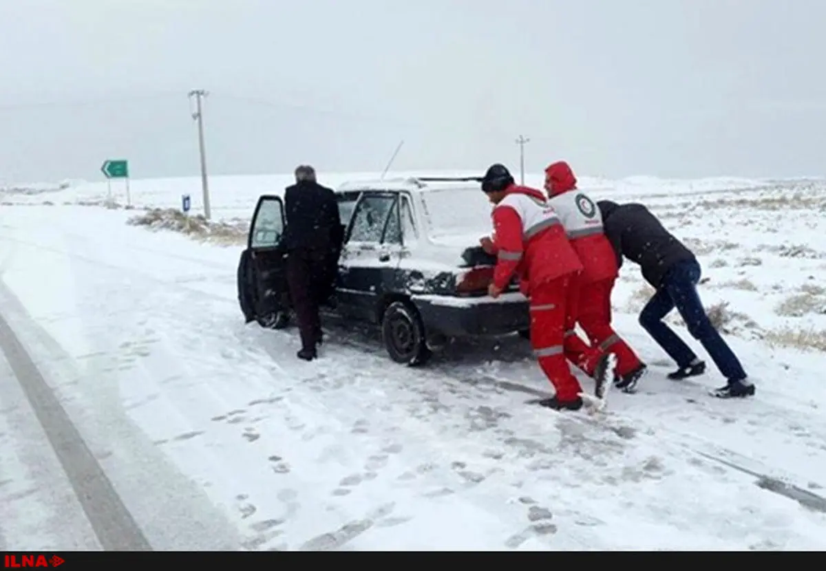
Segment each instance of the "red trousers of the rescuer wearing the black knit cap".
[[[573,275],[532,284],[530,291],[530,342],[534,347],[534,355],[539,360],[539,367],[551,381],[557,399],[563,402],[577,399],[577,395],[582,392],[577,377],[572,375],[568,367],[565,347],[565,332],[571,323],[576,323],[575,315],[568,311],[572,307],[576,308],[576,303],[571,304],[569,301],[569,296],[576,295],[576,291]],[[579,341],[582,342],[582,339]],[[586,349],[590,351],[589,347]]]

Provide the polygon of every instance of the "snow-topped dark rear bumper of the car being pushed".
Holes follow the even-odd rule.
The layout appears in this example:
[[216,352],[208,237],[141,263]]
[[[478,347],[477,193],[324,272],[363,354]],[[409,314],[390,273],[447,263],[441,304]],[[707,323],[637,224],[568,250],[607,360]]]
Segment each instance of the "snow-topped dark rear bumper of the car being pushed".
[[528,300],[519,292],[491,297],[412,295],[430,335],[448,337],[506,335],[530,327]]

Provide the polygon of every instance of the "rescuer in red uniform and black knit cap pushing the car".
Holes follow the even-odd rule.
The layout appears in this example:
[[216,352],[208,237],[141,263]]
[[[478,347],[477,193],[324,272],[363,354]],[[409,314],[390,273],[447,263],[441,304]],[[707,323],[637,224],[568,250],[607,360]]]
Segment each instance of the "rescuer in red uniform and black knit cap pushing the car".
[[[507,168],[494,164],[482,179],[482,191],[494,205],[496,269],[488,293],[498,297],[516,275],[520,290],[530,300],[530,341],[539,366],[556,395],[540,402],[557,410],[582,408],[582,386],[565,358],[565,332],[573,328],[568,296],[572,282],[582,271],[577,253],[568,243],[565,229],[541,191],[518,186]],[[483,240],[483,246],[486,245]],[[582,340],[580,340],[582,342]],[[587,347],[586,347],[587,348]],[[596,396],[604,392],[608,356],[596,363]]]

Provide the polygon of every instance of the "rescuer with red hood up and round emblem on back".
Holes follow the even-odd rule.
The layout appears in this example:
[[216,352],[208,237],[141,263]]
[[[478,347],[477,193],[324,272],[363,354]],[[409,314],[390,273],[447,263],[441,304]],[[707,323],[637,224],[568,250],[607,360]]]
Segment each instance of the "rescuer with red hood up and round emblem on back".
[[[611,328],[611,291],[619,268],[614,248],[605,236],[600,209],[590,196],[577,189],[577,177],[564,161],[545,169],[545,190],[548,191],[548,203],[562,220],[567,238],[582,262],[583,270],[577,278],[578,296],[573,296],[573,303],[577,304],[576,319],[592,347],[617,357],[616,375],[619,378],[616,385],[633,391],[646,366]],[[589,362],[593,358],[585,352],[585,348],[590,347],[585,347],[573,329],[566,333],[582,345],[566,343],[567,358],[586,374],[593,375],[595,365]]]

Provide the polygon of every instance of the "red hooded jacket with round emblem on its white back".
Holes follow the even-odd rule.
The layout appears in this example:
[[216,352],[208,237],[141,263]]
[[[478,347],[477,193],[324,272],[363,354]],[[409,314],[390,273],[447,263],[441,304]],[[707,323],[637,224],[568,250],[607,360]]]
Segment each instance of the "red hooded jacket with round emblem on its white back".
[[577,189],[577,178],[565,162],[545,170],[548,202],[562,220],[571,245],[582,262],[581,284],[614,279],[619,273],[616,254],[602,227],[596,203]]

